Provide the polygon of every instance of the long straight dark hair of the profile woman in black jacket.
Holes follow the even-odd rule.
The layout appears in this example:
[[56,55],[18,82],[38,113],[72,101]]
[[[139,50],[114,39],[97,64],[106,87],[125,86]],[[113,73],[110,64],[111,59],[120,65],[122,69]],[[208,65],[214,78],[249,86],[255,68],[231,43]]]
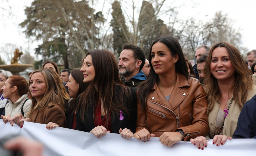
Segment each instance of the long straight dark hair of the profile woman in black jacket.
[[[95,69],[95,77],[87,89],[81,94],[77,111],[83,122],[84,115],[88,116],[88,106],[93,107],[93,119],[95,119],[95,110],[102,100],[104,114],[107,117],[107,123],[110,119],[109,113],[114,113],[114,116],[119,115],[119,110],[129,112],[125,107],[127,98],[131,98],[131,90],[124,86],[118,76],[118,66],[114,55],[108,50],[93,50],[86,54],[92,56],[92,64]],[[96,88],[94,87],[96,84]]]

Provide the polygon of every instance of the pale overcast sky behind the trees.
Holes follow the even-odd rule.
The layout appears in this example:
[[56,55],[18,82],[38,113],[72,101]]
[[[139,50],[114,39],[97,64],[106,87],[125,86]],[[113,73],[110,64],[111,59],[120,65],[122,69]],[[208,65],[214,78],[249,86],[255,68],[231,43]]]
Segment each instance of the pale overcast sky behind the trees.
[[[32,0],[9,0],[9,5],[14,14],[13,17],[8,17],[7,13],[1,17],[0,14],[0,46],[5,43],[17,44],[18,48],[22,47],[23,51],[28,50],[31,54],[34,53],[33,49],[37,47],[38,42],[31,43],[31,39],[25,38],[24,33],[19,27],[19,23],[25,20],[24,13],[25,6],[29,6]],[[167,0],[167,3],[171,2]],[[222,10],[227,13],[230,19],[235,21],[234,27],[240,28],[242,34],[243,46],[247,47],[250,51],[256,49],[256,0],[194,0],[196,7],[190,0],[177,0],[175,3],[183,7],[178,9],[179,15],[184,19],[188,17],[195,17],[203,21],[211,19],[216,11]],[[99,3],[102,4],[102,3]],[[2,7],[8,5],[0,4]],[[6,8],[8,9],[8,8]],[[207,15],[207,16],[205,16]],[[164,17],[161,17],[161,19]],[[174,36],[175,37],[175,36]],[[5,56],[1,54],[1,58]]]

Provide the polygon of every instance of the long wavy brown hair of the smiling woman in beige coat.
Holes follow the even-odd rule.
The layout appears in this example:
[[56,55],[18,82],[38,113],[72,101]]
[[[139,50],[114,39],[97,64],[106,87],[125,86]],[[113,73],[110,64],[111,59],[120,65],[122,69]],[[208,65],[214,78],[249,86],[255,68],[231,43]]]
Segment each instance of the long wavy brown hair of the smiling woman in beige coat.
[[237,50],[232,44],[228,42],[219,42],[214,44],[209,52],[209,56],[204,66],[204,87],[207,93],[208,101],[207,114],[209,114],[209,112],[212,110],[215,101],[219,100],[222,96],[219,91],[217,79],[211,73],[212,52],[215,48],[218,47],[226,48],[229,54],[230,61],[235,68],[235,84],[232,89],[234,90],[234,100],[238,103],[239,108],[242,109],[243,105],[246,102],[248,96],[248,89],[253,88],[251,71],[247,67],[246,63],[243,61],[239,50]]

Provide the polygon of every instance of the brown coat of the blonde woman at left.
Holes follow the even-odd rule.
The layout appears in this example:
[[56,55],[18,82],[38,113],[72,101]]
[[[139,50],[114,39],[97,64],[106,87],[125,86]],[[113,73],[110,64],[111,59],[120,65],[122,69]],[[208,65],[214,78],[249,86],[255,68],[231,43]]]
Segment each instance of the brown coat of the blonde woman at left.
[[48,104],[42,111],[34,110],[33,113],[29,116],[31,122],[48,124],[53,122],[58,124],[60,127],[66,128],[66,117],[64,109],[59,105]]

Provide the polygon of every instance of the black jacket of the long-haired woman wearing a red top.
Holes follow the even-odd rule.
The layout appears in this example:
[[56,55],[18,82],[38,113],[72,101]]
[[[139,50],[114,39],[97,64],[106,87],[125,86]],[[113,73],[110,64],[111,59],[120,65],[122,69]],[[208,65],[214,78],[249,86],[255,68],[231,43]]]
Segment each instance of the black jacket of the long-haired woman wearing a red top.
[[[133,133],[135,133],[136,129],[136,120],[137,120],[137,102],[136,102],[136,93],[134,89],[131,89],[132,91],[132,99],[127,99],[125,106],[130,110],[130,116],[125,112],[123,112],[124,119],[121,121],[118,116],[114,116],[114,113],[111,113],[111,133],[117,133],[119,134],[119,129],[127,128],[130,129]],[[79,114],[79,108],[75,115],[76,120],[76,130],[90,132],[94,127],[94,120],[93,120],[93,107],[92,105],[88,106],[88,116],[84,115],[85,123],[81,120],[80,114]]]

